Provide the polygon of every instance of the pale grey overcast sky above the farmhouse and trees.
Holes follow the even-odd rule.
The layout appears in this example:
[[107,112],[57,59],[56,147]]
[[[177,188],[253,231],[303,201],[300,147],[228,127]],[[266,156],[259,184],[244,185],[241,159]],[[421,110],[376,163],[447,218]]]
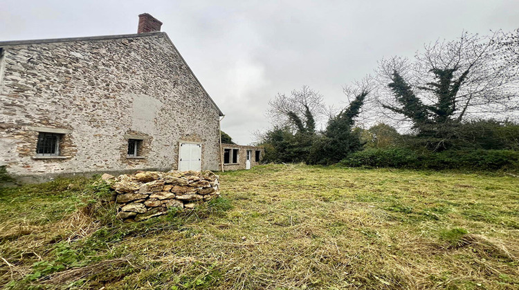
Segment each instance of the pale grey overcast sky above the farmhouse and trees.
[[519,28],[518,0],[2,0],[0,41],[136,33],[143,12],[164,23],[239,144],[270,126],[277,93],[308,85],[338,106],[343,86],[383,57],[463,30]]

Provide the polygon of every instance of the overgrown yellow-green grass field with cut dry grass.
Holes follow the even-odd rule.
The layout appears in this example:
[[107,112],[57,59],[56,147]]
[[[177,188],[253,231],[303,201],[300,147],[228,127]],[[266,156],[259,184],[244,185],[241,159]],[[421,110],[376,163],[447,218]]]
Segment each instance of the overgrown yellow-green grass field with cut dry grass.
[[6,289],[519,289],[519,178],[304,165],[124,224],[107,187],[0,189]]

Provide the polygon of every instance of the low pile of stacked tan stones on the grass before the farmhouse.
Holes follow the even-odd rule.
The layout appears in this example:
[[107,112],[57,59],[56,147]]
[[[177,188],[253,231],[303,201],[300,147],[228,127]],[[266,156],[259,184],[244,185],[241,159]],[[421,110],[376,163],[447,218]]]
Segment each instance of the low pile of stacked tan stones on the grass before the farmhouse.
[[217,197],[218,175],[211,171],[143,171],[120,175],[111,183],[124,220],[147,220],[167,213],[170,207],[193,209]]

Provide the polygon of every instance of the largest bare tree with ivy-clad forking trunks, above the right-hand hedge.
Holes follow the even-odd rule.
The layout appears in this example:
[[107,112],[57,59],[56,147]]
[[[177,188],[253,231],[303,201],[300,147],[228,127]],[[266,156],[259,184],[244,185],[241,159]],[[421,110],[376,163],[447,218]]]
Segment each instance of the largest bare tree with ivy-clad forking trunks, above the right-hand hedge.
[[455,41],[425,45],[414,59],[383,59],[374,94],[379,108],[392,120],[412,122],[417,131],[517,113],[517,66],[505,64],[497,40],[497,33],[463,32]]

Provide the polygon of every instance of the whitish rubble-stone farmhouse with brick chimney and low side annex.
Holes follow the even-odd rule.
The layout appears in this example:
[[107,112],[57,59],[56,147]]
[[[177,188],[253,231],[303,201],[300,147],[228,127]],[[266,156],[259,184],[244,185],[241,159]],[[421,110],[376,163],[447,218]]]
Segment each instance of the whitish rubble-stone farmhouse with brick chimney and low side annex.
[[0,42],[0,166],[44,180],[257,164],[262,148],[221,144],[224,113],[161,25],[145,13],[137,34]]

